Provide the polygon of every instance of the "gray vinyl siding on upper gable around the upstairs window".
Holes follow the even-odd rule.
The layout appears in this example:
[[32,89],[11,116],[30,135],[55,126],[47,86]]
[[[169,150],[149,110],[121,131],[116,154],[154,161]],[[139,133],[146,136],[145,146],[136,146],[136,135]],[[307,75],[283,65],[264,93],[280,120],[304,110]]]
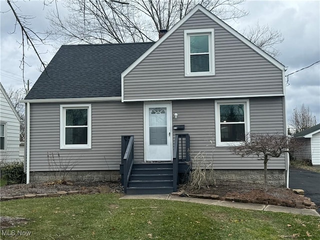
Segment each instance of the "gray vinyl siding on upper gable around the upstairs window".
[[[214,28],[214,76],[184,76],[183,30]],[[282,72],[197,11],[124,77],[124,100],[283,94]]]

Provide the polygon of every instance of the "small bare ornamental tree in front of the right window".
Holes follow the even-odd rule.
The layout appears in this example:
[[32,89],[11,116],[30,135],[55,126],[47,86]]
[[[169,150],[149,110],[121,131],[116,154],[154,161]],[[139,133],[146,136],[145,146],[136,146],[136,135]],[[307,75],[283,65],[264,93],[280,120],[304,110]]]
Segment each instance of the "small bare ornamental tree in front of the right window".
[[267,189],[267,162],[270,157],[279,157],[285,152],[297,150],[301,147],[295,139],[277,133],[248,133],[240,145],[232,146],[231,150],[240,156],[256,155],[258,160],[263,160],[264,165],[264,190]]

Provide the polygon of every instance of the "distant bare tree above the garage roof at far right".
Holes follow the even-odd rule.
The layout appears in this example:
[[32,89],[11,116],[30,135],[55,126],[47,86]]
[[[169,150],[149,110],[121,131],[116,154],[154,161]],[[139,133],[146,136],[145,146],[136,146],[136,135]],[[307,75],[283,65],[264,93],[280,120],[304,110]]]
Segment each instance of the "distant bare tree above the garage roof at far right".
[[294,107],[291,116],[289,117],[289,124],[292,127],[293,133],[298,133],[316,124],[315,116],[310,108],[303,103],[298,108]]

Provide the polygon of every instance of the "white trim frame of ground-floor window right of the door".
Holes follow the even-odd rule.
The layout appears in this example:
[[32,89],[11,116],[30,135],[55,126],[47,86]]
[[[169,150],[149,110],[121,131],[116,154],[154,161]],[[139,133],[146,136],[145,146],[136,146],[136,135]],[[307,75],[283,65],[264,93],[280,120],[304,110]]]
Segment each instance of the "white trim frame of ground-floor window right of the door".
[[220,134],[220,104],[243,104],[244,112],[244,133],[247,135],[250,132],[250,109],[249,99],[234,99],[234,100],[215,100],[214,102],[214,118],[215,118],[215,145],[216,146],[235,146],[240,145],[240,141],[221,141]]

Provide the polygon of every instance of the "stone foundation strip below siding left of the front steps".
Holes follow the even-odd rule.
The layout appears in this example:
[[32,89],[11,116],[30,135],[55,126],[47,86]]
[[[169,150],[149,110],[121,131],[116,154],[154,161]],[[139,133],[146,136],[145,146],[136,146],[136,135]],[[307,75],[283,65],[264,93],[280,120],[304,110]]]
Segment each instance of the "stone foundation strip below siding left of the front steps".
[[[90,171],[70,171],[66,176],[69,181],[119,181],[120,172],[118,170],[90,170]],[[53,181],[50,171],[31,171],[30,182]]]

